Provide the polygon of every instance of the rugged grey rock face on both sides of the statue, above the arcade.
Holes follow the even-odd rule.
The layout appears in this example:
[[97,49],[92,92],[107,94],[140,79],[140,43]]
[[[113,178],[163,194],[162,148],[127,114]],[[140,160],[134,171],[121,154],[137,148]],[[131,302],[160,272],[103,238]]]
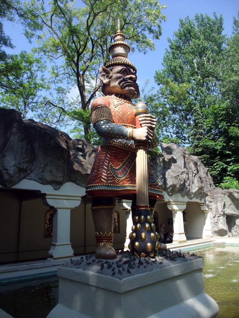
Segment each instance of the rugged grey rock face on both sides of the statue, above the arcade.
[[[22,120],[13,109],[0,108],[0,185],[23,179],[85,187],[96,146],[32,119]],[[239,191],[215,188],[208,169],[196,156],[175,144],[161,144],[162,155],[151,159],[157,179],[169,196],[179,193],[205,200],[214,236],[239,236]]]

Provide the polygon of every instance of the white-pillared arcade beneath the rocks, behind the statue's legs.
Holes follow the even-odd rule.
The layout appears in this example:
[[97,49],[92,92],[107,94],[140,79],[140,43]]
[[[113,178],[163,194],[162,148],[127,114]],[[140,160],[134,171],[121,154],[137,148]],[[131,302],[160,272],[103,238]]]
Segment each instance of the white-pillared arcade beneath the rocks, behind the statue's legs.
[[[0,187],[0,203],[0,263],[69,259],[95,251],[91,202],[83,187],[69,182],[54,190],[51,185],[24,179],[11,188]],[[117,200],[115,249],[129,243],[130,206],[130,201]],[[179,194],[164,193],[164,200],[156,205],[154,222],[156,231],[165,224],[164,230],[173,233],[173,243],[212,237],[205,203],[185,200]]]

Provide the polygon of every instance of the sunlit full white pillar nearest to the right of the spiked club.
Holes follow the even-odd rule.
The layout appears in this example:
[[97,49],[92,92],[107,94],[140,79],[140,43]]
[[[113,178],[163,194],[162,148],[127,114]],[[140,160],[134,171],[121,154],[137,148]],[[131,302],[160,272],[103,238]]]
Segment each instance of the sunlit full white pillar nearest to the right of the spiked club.
[[167,202],[167,207],[173,213],[173,243],[186,243],[183,221],[183,211],[186,208],[186,202]]

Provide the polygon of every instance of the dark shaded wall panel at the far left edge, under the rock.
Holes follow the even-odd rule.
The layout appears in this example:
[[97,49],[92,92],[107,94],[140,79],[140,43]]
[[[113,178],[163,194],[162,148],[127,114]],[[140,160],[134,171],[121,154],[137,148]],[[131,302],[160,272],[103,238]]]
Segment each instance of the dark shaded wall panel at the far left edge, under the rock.
[[18,260],[21,215],[20,196],[15,192],[0,192],[0,263]]

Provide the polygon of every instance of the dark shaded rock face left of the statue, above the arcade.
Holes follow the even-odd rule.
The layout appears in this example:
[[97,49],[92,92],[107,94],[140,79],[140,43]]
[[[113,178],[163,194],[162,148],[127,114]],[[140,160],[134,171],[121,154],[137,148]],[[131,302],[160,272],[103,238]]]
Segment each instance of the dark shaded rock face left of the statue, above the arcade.
[[58,190],[73,182],[85,187],[98,147],[32,119],[0,108],[0,184],[12,187],[23,179]]

